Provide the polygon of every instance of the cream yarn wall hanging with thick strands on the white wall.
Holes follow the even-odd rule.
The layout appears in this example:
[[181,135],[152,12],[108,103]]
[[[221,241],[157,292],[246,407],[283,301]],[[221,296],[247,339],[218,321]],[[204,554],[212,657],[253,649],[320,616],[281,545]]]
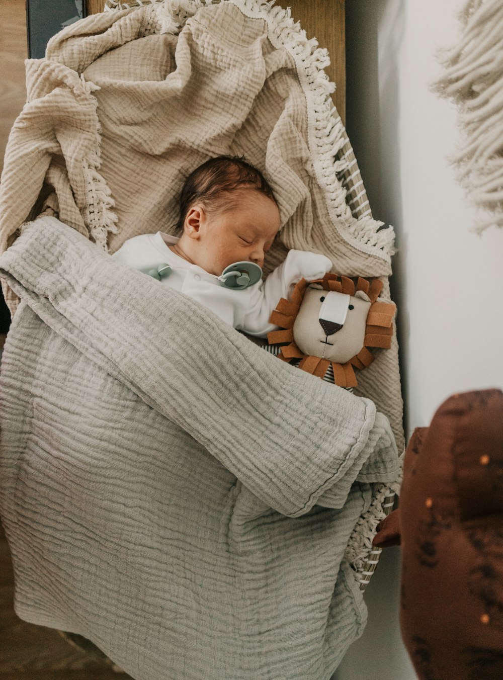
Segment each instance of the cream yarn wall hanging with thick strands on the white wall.
[[438,52],[443,72],[432,90],[457,105],[461,139],[450,160],[481,233],[503,227],[503,3],[468,0],[459,20],[457,43]]

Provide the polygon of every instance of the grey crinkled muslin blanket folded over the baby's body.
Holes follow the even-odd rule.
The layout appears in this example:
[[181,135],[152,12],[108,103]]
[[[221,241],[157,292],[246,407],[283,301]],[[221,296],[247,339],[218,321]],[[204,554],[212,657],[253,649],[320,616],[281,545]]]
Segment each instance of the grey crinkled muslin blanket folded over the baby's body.
[[141,680],[328,680],[366,619],[349,535],[398,476],[385,416],[56,218],[0,267],[18,615]]

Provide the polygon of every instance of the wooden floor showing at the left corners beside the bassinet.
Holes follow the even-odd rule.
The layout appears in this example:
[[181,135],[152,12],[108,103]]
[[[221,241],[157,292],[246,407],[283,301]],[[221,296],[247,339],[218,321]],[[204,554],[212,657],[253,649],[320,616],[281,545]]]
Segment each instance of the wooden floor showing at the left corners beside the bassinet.
[[[24,100],[27,33],[24,0],[0,0],[0,169],[12,124]],[[5,336],[0,335],[0,350]],[[33,626],[14,613],[14,575],[0,528],[1,680],[126,680],[109,662],[72,647],[56,630]]]

